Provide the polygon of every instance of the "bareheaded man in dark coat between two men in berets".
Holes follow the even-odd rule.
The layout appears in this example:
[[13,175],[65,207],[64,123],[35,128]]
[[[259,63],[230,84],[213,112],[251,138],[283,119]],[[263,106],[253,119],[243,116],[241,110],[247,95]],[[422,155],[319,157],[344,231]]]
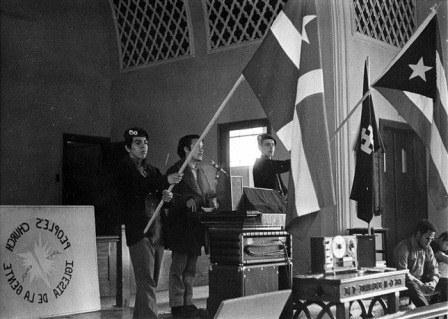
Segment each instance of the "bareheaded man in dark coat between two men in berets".
[[204,147],[198,135],[186,135],[179,140],[177,154],[180,160],[168,169],[167,174],[179,171],[185,159],[193,152],[185,168],[182,181],[173,188],[174,198],[168,214],[168,246],[172,251],[169,273],[169,304],[173,317],[195,317],[198,309],[193,305],[193,281],[196,263],[205,244],[205,229],[199,220],[202,207],[216,207],[216,194],[212,191],[203,168]]

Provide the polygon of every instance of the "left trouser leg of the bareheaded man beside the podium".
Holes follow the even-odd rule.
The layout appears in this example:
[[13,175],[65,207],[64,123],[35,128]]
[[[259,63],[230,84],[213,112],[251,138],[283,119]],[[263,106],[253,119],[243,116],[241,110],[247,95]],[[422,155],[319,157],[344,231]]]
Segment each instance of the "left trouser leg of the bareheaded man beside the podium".
[[170,307],[184,305],[185,286],[183,273],[187,264],[187,255],[176,251],[171,254],[171,266],[169,273],[169,304]]

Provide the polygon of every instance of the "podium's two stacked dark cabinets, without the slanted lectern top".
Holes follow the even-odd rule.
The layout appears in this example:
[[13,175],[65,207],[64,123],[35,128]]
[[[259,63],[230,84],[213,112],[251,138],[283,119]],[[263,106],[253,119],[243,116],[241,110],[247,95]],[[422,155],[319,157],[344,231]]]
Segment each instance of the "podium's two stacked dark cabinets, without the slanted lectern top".
[[226,299],[291,287],[291,235],[278,227],[209,229],[207,310]]

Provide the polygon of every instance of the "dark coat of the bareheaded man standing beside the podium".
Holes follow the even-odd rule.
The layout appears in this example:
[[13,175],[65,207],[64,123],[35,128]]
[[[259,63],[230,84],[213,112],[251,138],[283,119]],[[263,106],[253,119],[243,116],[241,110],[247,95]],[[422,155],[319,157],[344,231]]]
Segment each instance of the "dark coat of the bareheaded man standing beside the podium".
[[[178,172],[182,163],[183,161],[175,163],[168,169],[167,174]],[[205,192],[201,191],[190,166],[187,166],[182,181],[173,188],[174,197],[165,227],[168,248],[179,253],[197,256],[201,254],[201,247],[205,244],[205,227],[200,223],[199,213],[188,209],[186,202],[193,198],[197,210],[200,211],[201,207],[208,207],[208,200],[215,196],[205,178],[205,172],[201,167],[198,167],[198,170],[202,170],[203,184],[207,189]]]

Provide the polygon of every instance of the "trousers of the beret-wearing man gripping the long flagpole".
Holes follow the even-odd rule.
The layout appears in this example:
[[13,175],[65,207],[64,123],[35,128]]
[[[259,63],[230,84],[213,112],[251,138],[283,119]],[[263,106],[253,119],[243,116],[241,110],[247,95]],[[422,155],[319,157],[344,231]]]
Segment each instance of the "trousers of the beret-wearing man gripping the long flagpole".
[[133,319],[157,319],[156,282],[154,281],[155,247],[147,238],[129,247],[137,292]]

